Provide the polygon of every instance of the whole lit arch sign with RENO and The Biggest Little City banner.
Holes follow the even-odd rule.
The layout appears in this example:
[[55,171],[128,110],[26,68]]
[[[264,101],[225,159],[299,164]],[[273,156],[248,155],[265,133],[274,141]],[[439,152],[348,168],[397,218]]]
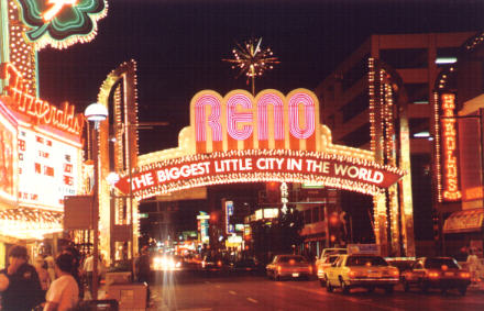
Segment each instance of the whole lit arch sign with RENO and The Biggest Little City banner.
[[[319,124],[317,97],[307,89],[287,96],[264,90],[255,98],[234,90],[224,98],[205,90],[191,100],[190,126],[179,146],[142,155],[117,187],[139,198],[233,182],[317,182],[376,195],[403,171],[376,164],[373,153],[331,143]],[[130,189],[131,178],[131,189]]]

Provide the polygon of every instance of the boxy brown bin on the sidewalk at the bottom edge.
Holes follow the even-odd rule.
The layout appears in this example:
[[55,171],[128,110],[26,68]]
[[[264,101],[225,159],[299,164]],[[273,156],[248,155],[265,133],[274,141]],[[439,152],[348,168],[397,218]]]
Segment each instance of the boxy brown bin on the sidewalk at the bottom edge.
[[141,282],[111,284],[108,287],[109,299],[116,299],[119,310],[146,310],[147,285]]

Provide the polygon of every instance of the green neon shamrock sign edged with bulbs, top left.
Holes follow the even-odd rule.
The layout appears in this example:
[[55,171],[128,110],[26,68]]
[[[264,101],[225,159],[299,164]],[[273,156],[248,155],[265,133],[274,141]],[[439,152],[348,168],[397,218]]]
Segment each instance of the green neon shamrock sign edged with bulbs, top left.
[[65,48],[96,36],[97,22],[106,16],[106,0],[16,0],[25,36],[37,49]]

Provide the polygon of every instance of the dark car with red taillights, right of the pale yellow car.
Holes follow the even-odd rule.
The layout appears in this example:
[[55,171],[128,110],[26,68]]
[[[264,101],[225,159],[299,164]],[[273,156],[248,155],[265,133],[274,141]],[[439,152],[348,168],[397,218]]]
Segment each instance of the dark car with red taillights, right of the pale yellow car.
[[405,291],[411,287],[418,287],[424,292],[430,288],[439,288],[442,292],[458,289],[464,296],[471,284],[471,274],[452,257],[422,257],[403,274],[402,279]]

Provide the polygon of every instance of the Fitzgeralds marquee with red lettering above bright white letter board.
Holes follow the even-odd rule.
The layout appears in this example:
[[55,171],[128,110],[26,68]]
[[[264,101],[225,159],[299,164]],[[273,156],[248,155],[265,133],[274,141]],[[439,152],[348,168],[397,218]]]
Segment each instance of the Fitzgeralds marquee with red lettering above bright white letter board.
[[0,253],[4,254],[4,243],[25,244],[62,232],[64,197],[88,189],[82,181],[82,114],[67,102],[61,109],[31,95],[30,84],[11,64],[1,64],[0,79],[4,86]]

